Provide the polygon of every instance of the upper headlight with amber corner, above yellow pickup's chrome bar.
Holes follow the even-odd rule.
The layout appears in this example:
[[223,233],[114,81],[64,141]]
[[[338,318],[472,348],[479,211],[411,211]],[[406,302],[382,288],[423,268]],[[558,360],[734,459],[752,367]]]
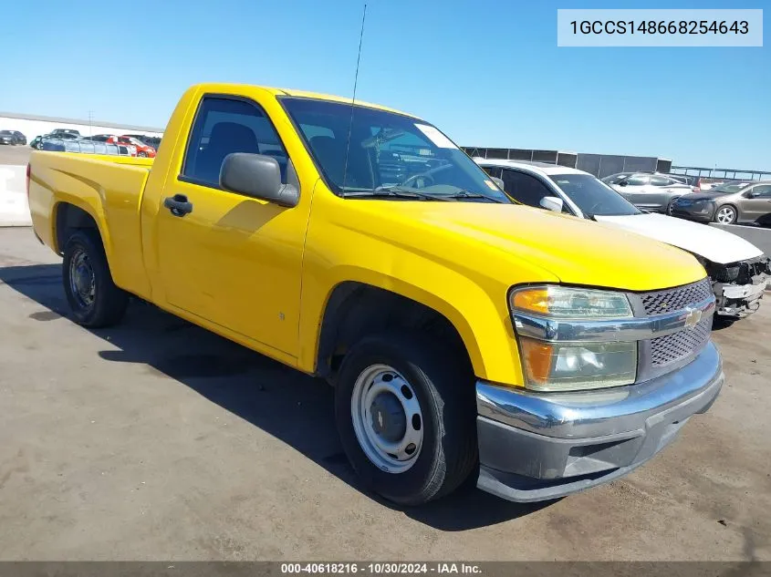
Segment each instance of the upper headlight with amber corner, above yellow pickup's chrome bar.
[[619,318],[632,316],[625,294],[568,286],[522,288],[511,294],[515,311],[554,318]]

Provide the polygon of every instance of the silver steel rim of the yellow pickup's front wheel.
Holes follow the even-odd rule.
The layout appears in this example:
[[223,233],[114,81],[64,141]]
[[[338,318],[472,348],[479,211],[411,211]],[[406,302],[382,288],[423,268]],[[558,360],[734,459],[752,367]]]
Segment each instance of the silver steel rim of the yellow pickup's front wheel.
[[373,465],[388,473],[412,469],[422,449],[423,417],[414,387],[398,371],[388,365],[361,371],[350,416],[359,447]]

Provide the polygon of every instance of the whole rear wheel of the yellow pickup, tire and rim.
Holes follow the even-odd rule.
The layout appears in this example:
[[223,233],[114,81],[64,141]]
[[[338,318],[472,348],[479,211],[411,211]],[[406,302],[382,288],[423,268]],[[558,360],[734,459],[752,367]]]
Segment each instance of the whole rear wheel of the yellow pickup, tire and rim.
[[115,325],[126,312],[129,295],[112,282],[99,234],[74,232],[64,248],[64,292],[78,325]]

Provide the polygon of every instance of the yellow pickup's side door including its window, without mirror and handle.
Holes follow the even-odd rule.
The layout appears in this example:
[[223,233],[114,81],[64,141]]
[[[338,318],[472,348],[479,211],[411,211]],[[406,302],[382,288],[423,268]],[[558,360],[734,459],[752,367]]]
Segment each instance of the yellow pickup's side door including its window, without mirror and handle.
[[[219,174],[228,154],[271,155],[286,167],[286,149],[250,98],[205,96],[194,118],[182,169],[169,175],[156,219],[166,302],[267,345],[259,348],[268,354],[296,357],[309,186],[294,208],[225,191]],[[164,208],[166,199],[190,210]]]

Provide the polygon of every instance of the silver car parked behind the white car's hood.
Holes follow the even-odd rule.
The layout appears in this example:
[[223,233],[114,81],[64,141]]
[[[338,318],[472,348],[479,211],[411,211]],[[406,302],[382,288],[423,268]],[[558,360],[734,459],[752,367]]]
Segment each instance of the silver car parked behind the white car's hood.
[[657,172],[620,172],[602,181],[643,211],[665,214],[671,211],[672,201],[693,191],[688,184]]

